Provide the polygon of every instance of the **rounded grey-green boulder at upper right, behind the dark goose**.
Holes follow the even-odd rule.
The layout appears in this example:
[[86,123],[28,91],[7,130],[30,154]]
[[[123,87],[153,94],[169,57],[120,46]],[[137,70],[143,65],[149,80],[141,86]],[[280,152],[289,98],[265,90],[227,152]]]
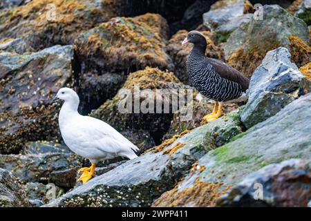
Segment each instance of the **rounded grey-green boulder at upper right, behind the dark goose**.
[[232,52],[242,46],[245,49],[258,46],[261,50],[277,43],[288,46],[290,44],[288,37],[291,35],[298,36],[303,41],[309,42],[308,26],[301,19],[293,17],[280,6],[263,6],[263,15],[263,20],[252,18],[249,23],[240,26],[230,35],[224,48],[226,59]]

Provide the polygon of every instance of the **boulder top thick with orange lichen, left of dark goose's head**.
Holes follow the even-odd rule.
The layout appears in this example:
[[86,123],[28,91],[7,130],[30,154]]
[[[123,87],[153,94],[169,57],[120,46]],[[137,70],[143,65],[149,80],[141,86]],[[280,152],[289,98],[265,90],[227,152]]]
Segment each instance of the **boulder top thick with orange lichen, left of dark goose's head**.
[[80,35],[75,50],[86,68],[97,66],[102,72],[131,72],[146,66],[168,68],[171,59],[165,51],[164,27],[166,21],[156,14],[115,17]]

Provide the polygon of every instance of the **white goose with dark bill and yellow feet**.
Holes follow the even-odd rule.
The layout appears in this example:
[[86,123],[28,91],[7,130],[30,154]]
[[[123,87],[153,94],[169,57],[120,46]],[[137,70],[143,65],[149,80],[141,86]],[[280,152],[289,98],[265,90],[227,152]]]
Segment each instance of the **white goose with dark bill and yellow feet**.
[[91,167],[82,167],[78,181],[88,182],[94,173],[97,162],[117,156],[133,159],[138,157],[138,147],[100,119],[82,116],[77,112],[79,96],[73,89],[61,88],[53,101],[64,100],[59,112],[59,129],[65,144],[71,151],[91,161]]

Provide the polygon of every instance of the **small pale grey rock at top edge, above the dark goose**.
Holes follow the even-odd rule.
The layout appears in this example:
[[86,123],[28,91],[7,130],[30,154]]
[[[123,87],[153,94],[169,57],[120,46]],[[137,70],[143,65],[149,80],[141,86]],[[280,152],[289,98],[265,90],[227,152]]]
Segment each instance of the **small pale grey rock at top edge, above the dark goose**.
[[252,4],[245,0],[217,1],[209,12],[203,14],[203,24],[209,30],[215,30],[218,26],[232,22],[232,19],[242,17],[245,12],[251,12],[252,9]]

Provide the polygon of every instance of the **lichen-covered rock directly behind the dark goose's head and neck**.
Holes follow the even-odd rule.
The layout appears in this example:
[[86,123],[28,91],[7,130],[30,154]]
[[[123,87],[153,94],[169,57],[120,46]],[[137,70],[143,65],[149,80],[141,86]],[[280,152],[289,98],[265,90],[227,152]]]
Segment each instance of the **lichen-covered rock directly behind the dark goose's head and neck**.
[[[173,59],[173,64],[175,65],[175,75],[185,84],[191,84],[187,74],[186,62],[193,46],[191,44],[182,46],[182,41],[185,37],[187,37],[187,33],[187,30],[179,30],[175,35],[173,35],[171,39],[169,39],[169,44],[167,44],[167,52]],[[202,34],[205,35],[207,39],[207,49],[205,51],[206,55],[216,59],[223,59],[223,51],[211,40],[213,37],[212,33],[209,31],[202,31]]]

